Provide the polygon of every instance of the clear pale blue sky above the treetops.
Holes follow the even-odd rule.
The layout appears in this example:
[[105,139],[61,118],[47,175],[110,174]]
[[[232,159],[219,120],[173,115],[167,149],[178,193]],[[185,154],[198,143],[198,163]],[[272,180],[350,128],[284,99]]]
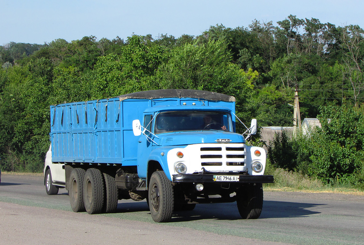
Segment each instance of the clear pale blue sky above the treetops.
[[0,0],[0,45],[68,42],[84,36],[127,39],[133,33],[198,36],[211,25],[248,27],[254,19],[316,18],[364,28],[363,0]]

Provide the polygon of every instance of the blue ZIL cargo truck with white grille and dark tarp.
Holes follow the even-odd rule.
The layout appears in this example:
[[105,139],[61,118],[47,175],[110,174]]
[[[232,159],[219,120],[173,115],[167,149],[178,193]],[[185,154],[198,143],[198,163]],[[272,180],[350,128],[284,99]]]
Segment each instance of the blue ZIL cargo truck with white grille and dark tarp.
[[[52,105],[51,161],[64,165],[74,212],[115,212],[147,200],[155,222],[198,203],[262,211],[266,153],[236,133],[235,98],[200,90],[153,90]],[[252,120],[246,131],[255,134]]]

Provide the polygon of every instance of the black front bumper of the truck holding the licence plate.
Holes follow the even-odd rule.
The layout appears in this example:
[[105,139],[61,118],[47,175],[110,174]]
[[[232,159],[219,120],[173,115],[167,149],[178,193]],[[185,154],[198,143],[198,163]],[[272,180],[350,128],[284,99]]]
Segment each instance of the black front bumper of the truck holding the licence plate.
[[[172,182],[174,183],[221,183],[221,181],[215,181],[214,175],[226,175],[226,174],[175,174]],[[231,174],[239,176],[239,181],[235,183],[273,183],[273,175],[242,175]],[[231,183],[230,181],[226,181]]]

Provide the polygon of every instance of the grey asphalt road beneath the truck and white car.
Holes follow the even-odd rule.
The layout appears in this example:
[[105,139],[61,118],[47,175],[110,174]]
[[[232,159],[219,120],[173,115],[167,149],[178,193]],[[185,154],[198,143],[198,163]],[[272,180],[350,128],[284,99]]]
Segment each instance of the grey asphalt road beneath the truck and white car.
[[145,201],[116,213],[71,210],[66,189],[48,196],[43,178],[1,175],[0,244],[364,244],[364,196],[264,192],[261,217],[236,203],[200,204],[156,224]]

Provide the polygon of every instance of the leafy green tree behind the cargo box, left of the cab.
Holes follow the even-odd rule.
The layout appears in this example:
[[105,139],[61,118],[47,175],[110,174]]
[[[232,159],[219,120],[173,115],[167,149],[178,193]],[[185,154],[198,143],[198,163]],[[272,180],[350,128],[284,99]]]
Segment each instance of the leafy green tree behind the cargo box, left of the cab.
[[110,98],[141,90],[158,88],[150,79],[162,63],[165,48],[146,46],[141,36],[128,38],[122,54],[98,58],[92,78],[92,98]]

